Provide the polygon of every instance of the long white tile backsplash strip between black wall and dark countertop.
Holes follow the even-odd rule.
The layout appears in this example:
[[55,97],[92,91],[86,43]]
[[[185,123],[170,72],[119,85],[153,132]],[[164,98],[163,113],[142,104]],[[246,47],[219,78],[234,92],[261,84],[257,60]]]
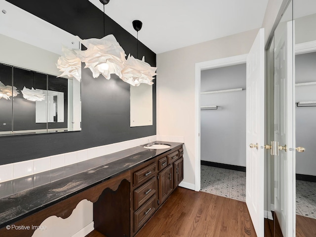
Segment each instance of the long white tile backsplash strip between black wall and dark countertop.
[[[148,141],[156,140],[158,140],[157,135],[154,135],[99,147],[93,147],[76,152],[60,154],[51,157],[38,158],[17,163],[0,165],[0,183],[28,176],[31,174],[40,173],[46,170],[59,168],[65,165],[73,164],[87,159],[105,156],[128,148],[146,144],[148,143]],[[178,137],[177,140],[181,139],[179,139]]]

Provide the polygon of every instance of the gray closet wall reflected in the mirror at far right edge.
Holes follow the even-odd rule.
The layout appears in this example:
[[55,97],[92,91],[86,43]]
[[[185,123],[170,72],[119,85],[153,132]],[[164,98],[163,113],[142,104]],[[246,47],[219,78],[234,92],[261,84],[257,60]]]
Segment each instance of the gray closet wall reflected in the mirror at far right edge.
[[[316,81],[316,52],[295,56],[295,82]],[[316,101],[316,85],[296,86],[295,101]],[[316,107],[296,107],[296,173],[316,175]]]

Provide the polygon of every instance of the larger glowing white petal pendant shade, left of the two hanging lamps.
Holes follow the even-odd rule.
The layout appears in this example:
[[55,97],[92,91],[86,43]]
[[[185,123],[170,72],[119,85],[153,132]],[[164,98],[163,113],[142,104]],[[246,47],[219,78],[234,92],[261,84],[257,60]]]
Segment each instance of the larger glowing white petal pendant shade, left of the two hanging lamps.
[[80,51],[79,57],[85,63],[84,68],[91,70],[93,78],[99,77],[100,74],[106,79],[110,79],[111,74],[122,77],[126,54],[113,35],[102,39],[81,40],[81,43],[87,49]]

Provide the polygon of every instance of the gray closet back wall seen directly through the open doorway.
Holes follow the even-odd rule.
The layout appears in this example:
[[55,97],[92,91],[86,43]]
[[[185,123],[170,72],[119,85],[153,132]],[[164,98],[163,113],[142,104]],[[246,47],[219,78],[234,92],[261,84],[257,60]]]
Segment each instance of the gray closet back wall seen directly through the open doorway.
[[[201,92],[246,87],[246,65],[201,72]],[[201,94],[201,160],[246,166],[246,91]]]

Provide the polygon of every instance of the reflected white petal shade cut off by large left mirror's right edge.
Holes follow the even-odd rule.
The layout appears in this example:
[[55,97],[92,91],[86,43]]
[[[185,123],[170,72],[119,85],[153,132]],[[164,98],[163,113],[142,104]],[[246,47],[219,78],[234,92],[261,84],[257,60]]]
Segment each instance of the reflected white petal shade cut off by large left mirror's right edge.
[[59,77],[68,76],[81,80],[81,60],[78,57],[77,50],[62,46],[62,55],[59,57],[57,64],[59,72],[63,72]]

